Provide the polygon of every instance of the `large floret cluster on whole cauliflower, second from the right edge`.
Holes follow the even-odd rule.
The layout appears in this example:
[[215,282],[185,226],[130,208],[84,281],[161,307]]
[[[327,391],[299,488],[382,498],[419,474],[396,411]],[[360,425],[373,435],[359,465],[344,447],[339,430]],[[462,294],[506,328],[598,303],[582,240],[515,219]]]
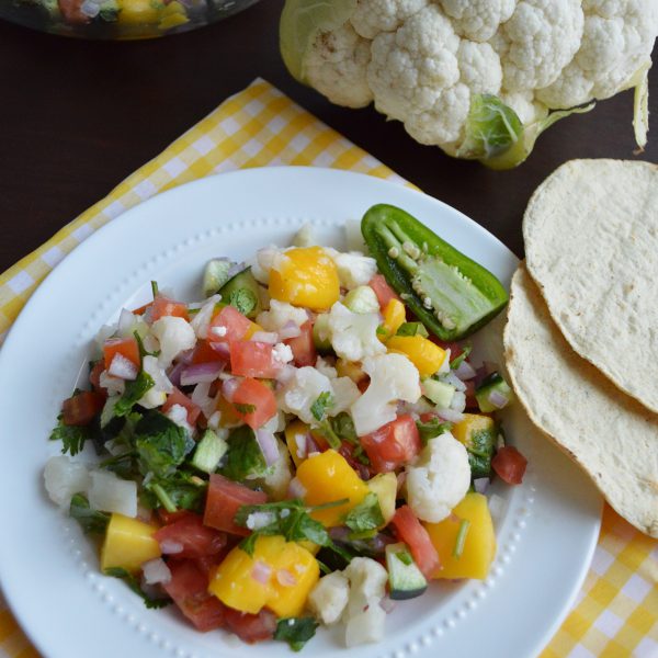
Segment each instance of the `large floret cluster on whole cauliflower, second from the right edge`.
[[494,47],[508,91],[541,89],[554,82],[580,47],[581,0],[522,0]]

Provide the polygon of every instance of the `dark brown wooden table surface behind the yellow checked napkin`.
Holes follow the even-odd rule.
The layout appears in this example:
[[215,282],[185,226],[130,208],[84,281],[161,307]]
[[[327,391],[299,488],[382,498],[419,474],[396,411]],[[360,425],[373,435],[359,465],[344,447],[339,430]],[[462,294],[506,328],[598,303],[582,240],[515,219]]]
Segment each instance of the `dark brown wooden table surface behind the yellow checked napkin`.
[[[25,256],[229,94],[261,76],[517,254],[536,185],[571,158],[633,158],[631,92],[567,118],[519,169],[492,172],[416,144],[372,107],[345,110],[295,82],[279,56],[283,0],[156,41],[87,42],[0,21],[0,271]],[[658,161],[658,68],[650,75]]]

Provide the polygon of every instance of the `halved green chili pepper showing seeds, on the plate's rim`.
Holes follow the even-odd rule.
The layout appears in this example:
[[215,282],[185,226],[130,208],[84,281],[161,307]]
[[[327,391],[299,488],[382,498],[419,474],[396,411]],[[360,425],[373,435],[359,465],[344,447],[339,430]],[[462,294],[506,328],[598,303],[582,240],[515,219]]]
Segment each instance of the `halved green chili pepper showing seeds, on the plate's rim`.
[[361,232],[388,284],[441,340],[465,338],[507,304],[491,272],[400,208],[373,206]]

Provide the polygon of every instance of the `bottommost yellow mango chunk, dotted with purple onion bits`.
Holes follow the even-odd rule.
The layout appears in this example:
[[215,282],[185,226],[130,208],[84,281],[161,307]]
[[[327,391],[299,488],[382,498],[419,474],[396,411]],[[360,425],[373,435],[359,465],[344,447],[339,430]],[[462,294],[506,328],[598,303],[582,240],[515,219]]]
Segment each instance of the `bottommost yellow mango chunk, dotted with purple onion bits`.
[[[260,565],[257,566],[257,563]],[[254,568],[266,575],[253,578]],[[320,577],[315,557],[282,536],[260,536],[253,556],[236,546],[211,575],[208,591],[225,605],[257,614],[263,606],[279,616],[298,616]]]

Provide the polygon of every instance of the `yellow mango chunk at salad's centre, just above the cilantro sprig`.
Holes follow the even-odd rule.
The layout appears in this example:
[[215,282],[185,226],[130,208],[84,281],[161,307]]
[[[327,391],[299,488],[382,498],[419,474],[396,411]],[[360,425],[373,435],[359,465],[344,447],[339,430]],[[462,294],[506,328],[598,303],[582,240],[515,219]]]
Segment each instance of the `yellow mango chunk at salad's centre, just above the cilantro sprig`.
[[304,460],[297,468],[297,479],[306,489],[304,500],[309,506],[324,504],[342,498],[349,499],[341,506],[311,513],[314,519],[327,527],[341,525],[344,515],[368,492],[367,485],[334,450],[327,450]]

